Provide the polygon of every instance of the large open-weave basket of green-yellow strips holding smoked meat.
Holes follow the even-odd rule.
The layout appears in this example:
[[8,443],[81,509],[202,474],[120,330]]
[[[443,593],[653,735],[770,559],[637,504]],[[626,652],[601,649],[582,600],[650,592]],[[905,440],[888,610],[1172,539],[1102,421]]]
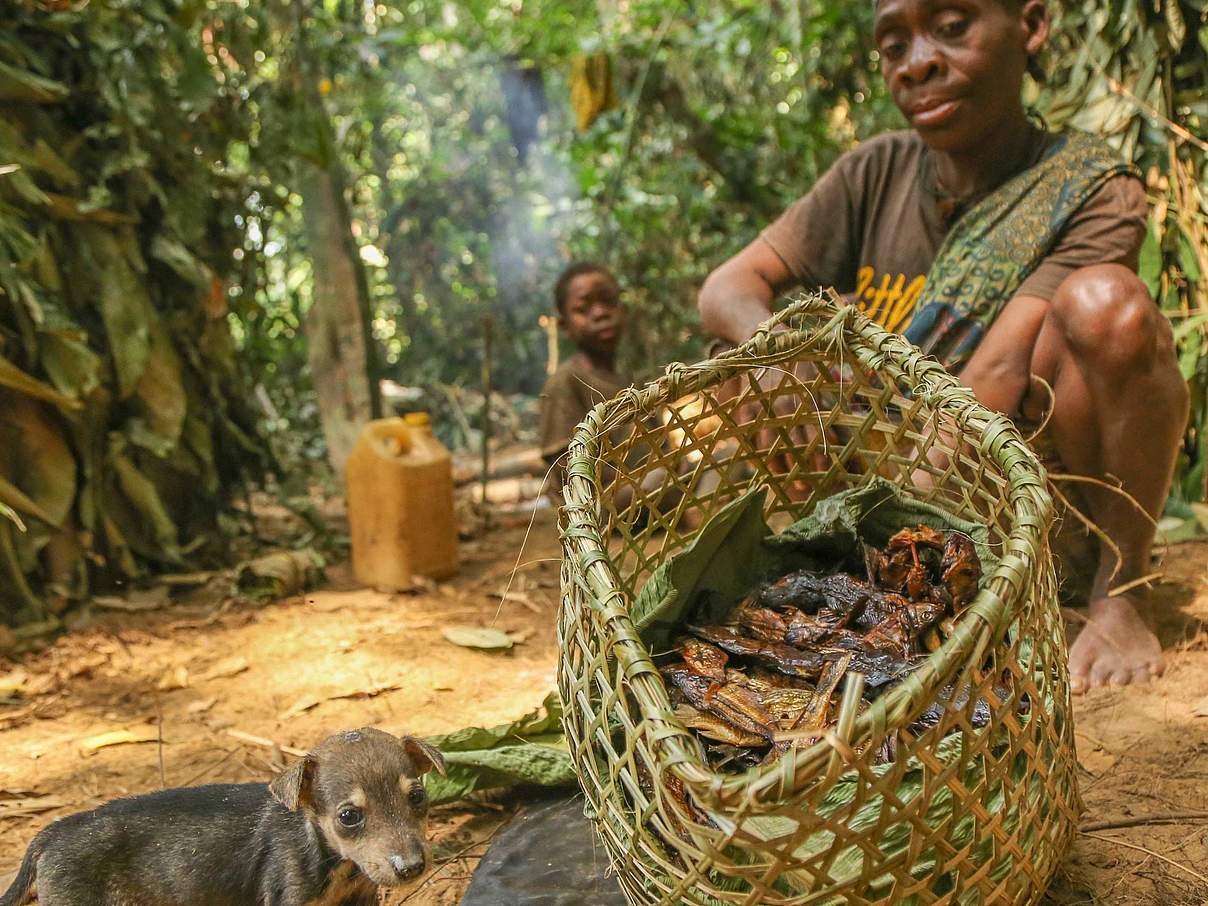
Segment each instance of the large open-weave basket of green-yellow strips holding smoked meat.
[[[1044,472],[1010,420],[836,297],[776,323],[597,406],[571,442],[558,685],[586,811],[632,904],[1035,902],[1081,808]],[[753,486],[774,528],[873,476],[987,525],[997,568],[871,707],[774,763],[714,772],[629,604]],[[964,705],[913,736],[946,687]],[[895,759],[873,765],[887,741]]]

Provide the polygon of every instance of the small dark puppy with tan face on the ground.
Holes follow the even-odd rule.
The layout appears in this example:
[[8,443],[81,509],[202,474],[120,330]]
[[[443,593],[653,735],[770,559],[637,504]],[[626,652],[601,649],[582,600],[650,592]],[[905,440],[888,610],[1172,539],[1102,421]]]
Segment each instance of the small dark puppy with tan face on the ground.
[[0,906],[371,906],[430,860],[413,737],[353,730],[269,784],[164,790],[43,829]]

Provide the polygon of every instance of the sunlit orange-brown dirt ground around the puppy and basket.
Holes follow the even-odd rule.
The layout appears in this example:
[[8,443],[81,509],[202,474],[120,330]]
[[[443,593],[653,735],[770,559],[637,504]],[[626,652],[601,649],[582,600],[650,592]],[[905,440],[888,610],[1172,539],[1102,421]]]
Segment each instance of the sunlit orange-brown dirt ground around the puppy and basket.
[[[161,785],[263,780],[281,757],[273,744],[306,749],[360,725],[439,733],[532,710],[554,686],[558,547],[542,519],[501,603],[524,536],[512,524],[467,542],[460,575],[416,594],[356,590],[337,564],[304,596],[222,605],[202,590],[153,612],[98,610],[42,651],[0,658],[0,879],[53,818]],[[1076,704],[1085,831],[1049,906],[1208,902],[1206,568],[1208,544],[1167,557],[1166,676]],[[447,623],[494,625],[522,643],[458,647],[441,635]],[[86,751],[122,731],[144,742]],[[439,867],[387,902],[457,904],[517,805],[436,808]]]

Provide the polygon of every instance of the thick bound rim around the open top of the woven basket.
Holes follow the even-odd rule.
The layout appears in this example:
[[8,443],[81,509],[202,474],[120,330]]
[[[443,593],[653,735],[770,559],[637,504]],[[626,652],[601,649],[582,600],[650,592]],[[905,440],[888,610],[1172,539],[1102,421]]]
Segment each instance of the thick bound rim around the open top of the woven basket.
[[[806,316],[821,316],[825,323],[817,330],[792,329],[790,321]],[[846,739],[827,733],[805,749],[790,749],[776,763],[751,767],[743,773],[720,774],[701,762],[690,731],[674,716],[666,687],[650,652],[638,638],[629,616],[632,602],[621,592],[616,569],[608,556],[596,504],[600,483],[596,475],[599,440],[632,417],[658,405],[673,402],[750,367],[751,356],[778,361],[792,352],[817,348],[817,341],[827,333],[842,333],[860,365],[881,371],[899,387],[927,401],[936,412],[945,412],[960,425],[962,432],[977,432],[981,452],[1001,467],[1007,481],[1007,499],[1014,512],[1011,530],[1004,544],[1003,557],[978,591],[974,603],[960,615],[949,638],[911,675],[873,702],[852,727]],[[871,321],[854,306],[843,302],[834,291],[798,296],[756,330],[742,345],[697,365],[670,362],[666,373],[643,388],[628,388],[611,400],[598,403],[571,437],[567,458],[567,481],[563,487],[562,536],[573,546],[581,564],[583,580],[591,586],[597,610],[608,631],[606,645],[623,668],[639,705],[641,724],[657,725],[650,734],[650,749],[656,759],[680,782],[690,785],[693,795],[713,801],[715,807],[727,803],[757,802],[767,796],[782,798],[800,791],[817,780],[824,768],[838,767],[850,757],[852,747],[859,745],[876,732],[900,726],[919,699],[934,699],[935,692],[970,660],[976,649],[989,641],[1017,615],[1022,592],[1011,576],[1035,568],[1038,551],[1052,519],[1052,500],[1046,487],[1044,467],[1023,441],[1015,424],[1000,413],[986,408],[972,391],[963,387],[935,359],[927,356],[900,335],[890,333]],[[563,594],[563,606],[567,596]],[[559,670],[565,663],[559,663]],[[567,703],[568,708],[574,702]],[[704,805],[704,803],[702,803]]]

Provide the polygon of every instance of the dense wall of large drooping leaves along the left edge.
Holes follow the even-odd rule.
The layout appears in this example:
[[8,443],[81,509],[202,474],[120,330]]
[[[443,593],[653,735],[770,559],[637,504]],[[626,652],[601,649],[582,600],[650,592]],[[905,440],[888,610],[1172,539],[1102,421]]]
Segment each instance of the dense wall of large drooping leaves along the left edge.
[[[252,129],[239,2],[10,4],[0,618],[182,562],[263,465],[225,321]],[[220,45],[216,36],[221,35]],[[12,515],[19,522],[12,521]]]

